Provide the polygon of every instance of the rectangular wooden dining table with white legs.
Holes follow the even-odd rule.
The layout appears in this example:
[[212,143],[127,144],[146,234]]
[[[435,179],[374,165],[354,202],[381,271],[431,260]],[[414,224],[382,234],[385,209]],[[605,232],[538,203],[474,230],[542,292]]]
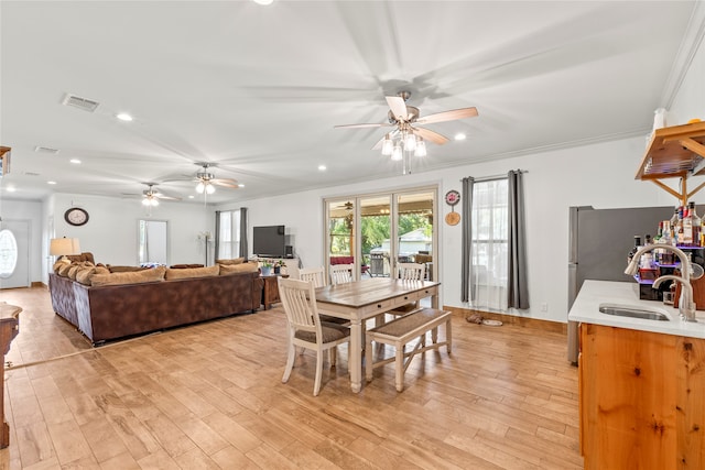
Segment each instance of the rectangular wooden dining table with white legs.
[[440,285],[430,281],[373,277],[316,288],[316,304],[322,313],[350,321],[348,368],[352,392],[358,393],[362,389],[362,332],[366,320],[425,297],[431,297],[431,306],[438,308]]

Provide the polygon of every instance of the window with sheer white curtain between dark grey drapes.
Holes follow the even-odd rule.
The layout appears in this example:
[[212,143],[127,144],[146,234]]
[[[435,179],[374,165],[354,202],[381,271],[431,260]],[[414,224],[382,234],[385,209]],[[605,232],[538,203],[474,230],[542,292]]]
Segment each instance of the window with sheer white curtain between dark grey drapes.
[[507,310],[508,194],[507,178],[473,186],[470,288],[478,309]]

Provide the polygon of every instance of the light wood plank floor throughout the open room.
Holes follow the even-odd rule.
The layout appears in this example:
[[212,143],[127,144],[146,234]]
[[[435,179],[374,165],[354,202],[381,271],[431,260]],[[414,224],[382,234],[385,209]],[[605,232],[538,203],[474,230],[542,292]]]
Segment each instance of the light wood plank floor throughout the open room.
[[0,300],[24,308],[3,469],[583,468],[564,335],[454,318],[453,354],[416,357],[402,393],[392,364],[351,393],[340,348],[314,397],[310,352],[281,383],[281,307],[93,349],[45,288]]

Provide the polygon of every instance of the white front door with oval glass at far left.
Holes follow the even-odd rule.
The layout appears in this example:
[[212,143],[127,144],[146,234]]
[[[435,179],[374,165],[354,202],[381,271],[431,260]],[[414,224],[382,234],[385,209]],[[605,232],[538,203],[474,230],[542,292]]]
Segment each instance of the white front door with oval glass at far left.
[[30,221],[0,222],[0,288],[30,286]]

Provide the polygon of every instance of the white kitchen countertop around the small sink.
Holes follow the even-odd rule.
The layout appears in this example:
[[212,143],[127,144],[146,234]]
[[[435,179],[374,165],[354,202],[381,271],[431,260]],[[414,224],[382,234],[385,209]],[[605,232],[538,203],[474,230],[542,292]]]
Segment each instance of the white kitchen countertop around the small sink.
[[[568,314],[568,320],[663,335],[705,338],[705,311],[696,313],[697,323],[682,321],[679,309],[657,300],[639,299],[633,282],[585,281]],[[619,304],[664,313],[670,321],[620,317],[599,311],[600,304]]]

